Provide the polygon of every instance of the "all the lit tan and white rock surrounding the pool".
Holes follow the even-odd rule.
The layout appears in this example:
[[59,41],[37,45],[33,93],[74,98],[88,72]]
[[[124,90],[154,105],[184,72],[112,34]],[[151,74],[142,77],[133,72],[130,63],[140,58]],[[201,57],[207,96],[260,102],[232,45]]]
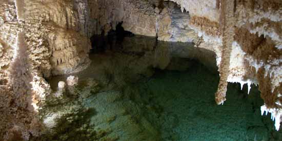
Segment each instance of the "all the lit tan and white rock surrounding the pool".
[[[0,119],[5,123],[0,131],[10,129],[0,136],[17,134],[28,139],[28,132],[38,135],[35,130],[39,123],[33,115],[39,102],[51,93],[44,77],[85,69],[90,63],[89,37],[107,33],[120,22],[134,34],[157,36],[161,41],[194,42],[215,52],[221,77],[217,104],[226,100],[227,82],[248,84],[248,89],[258,84],[265,102],[262,109],[274,115],[278,130],[282,111],[282,2],[171,1],[180,7],[172,2],[145,0],[0,0],[0,110],[7,114]],[[19,44],[17,38],[25,43]],[[12,86],[17,79],[11,78],[16,50],[24,44],[31,88],[23,95],[29,95],[26,100],[34,109],[30,114],[18,110],[16,115],[32,119],[28,124],[9,114],[26,102],[14,103],[20,95]]]

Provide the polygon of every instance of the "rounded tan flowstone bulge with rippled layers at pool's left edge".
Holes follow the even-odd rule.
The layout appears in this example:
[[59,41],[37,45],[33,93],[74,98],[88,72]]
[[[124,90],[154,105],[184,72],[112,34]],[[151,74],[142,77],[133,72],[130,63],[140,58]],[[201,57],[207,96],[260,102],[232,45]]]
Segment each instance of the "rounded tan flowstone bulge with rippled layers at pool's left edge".
[[78,72],[89,65],[90,43],[85,36],[71,30],[54,29],[49,33],[47,41],[52,52],[52,74]]

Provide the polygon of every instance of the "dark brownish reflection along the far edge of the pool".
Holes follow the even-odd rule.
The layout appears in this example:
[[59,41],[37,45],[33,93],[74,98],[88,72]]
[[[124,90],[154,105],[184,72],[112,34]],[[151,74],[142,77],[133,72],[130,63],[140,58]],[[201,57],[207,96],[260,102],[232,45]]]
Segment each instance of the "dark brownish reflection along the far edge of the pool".
[[[92,77],[104,85],[123,86],[153,75],[155,69],[187,70],[193,63],[202,63],[216,73],[215,54],[192,43],[160,42],[155,37],[95,36],[89,57],[90,67],[75,75]],[[197,62],[195,62],[197,61]],[[67,76],[67,75],[66,75]],[[66,76],[49,78],[53,90]]]

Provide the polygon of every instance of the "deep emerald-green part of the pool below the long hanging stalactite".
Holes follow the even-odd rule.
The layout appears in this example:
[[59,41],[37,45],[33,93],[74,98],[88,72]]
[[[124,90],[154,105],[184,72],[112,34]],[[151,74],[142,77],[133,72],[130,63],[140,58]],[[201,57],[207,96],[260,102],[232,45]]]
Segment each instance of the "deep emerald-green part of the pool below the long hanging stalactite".
[[160,127],[171,130],[175,140],[269,140],[257,88],[247,95],[246,88],[240,91],[238,85],[229,84],[228,100],[218,106],[214,102],[218,79],[197,65],[186,72],[161,71],[136,89],[167,113]]

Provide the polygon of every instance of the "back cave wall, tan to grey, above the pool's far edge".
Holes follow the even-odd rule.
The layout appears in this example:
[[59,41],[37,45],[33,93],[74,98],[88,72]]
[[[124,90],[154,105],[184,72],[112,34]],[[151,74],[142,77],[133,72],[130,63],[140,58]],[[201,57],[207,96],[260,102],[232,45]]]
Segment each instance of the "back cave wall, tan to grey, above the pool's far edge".
[[[192,42],[188,27],[189,14],[182,13],[175,3],[159,1],[89,1],[88,33],[101,34],[123,22],[126,31],[145,36],[158,36],[160,41]],[[164,10],[163,10],[164,9]]]

